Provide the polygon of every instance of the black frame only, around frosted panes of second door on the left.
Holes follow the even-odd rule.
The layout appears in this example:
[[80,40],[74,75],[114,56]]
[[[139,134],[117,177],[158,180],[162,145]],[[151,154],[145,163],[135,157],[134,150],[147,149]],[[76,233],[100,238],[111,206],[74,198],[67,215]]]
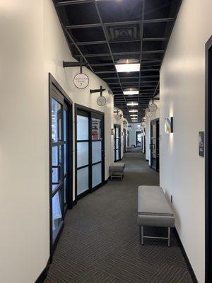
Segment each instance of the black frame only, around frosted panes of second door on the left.
[[[88,151],[89,151],[89,157],[88,157],[88,184],[89,188],[86,190],[86,192],[81,193],[81,195],[77,195],[77,113],[79,111],[88,113],[88,123],[89,123],[89,138],[88,138]],[[92,187],[92,122],[91,118],[93,115],[101,115],[102,116],[102,183],[99,185]],[[74,113],[74,120],[75,120],[75,201],[76,204],[78,200],[80,200],[85,195],[88,195],[88,193],[93,192],[94,190],[97,190],[99,187],[102,187],[102,185],[105,184],[105,113],[100,112],[98,110],[88,108],[86,106],[76,104],[75,103],[75,113]]]

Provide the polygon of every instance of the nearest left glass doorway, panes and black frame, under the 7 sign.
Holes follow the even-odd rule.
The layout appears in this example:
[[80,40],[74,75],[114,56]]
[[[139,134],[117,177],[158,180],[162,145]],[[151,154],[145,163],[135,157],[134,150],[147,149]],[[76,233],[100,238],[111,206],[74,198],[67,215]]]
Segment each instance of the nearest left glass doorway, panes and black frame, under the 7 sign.
[[73,195],[72,101],[49,74],[49,207],[50,256],[64,227]]

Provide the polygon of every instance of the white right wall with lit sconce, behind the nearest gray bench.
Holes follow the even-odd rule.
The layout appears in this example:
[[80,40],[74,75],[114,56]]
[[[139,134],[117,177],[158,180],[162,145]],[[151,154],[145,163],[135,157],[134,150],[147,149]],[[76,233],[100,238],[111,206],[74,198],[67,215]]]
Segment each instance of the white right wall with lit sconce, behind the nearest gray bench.
[[[199,283],[205,273],[205,44],[212,34],[212,1],[182,1],[160,71],[160,185],[173,195],[176,227]],[[174,134],[164,118],[174,117]]]

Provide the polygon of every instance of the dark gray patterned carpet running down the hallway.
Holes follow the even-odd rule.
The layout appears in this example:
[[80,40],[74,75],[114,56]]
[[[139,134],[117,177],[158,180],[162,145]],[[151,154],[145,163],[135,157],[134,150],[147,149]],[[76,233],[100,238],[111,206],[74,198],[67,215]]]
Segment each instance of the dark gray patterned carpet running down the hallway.
[[123,181],[109,181],[67,212],[45,283],[192,283],[173,233],[170,248],[164,240],[140,245],[137,187],[158,185],[159,176],[141,151],[123,161]]

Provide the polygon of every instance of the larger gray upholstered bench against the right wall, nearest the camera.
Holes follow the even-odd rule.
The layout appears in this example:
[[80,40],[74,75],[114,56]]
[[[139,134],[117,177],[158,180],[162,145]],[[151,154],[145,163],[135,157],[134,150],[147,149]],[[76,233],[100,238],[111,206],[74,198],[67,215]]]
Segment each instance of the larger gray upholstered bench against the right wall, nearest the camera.
[[[140,226],[139,236],[141,244],[144,238],[163,238],[167,239],[170,247],[170,227],[175,226],[175,216],[167,202],[162,187],[158,186],[139,186],[138,195],[138,217],[137,224]],[[167,227],[168,236],[151,237],[144,236],[143,226]]]

